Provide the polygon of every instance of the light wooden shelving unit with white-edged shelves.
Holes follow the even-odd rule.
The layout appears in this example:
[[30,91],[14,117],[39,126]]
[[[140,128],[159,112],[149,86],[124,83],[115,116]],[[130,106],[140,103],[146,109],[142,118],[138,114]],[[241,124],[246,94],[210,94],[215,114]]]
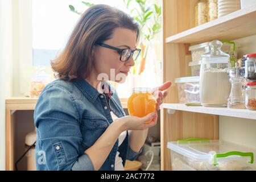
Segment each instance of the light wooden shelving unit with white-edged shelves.
[[[172,86],[161,109],[161,170],[171,170],[167,142],[191,137],[218,139],[219,115],[256,119],[254,111],[175,104],[178,103],[175,78],[191,76],[189,46],[214,39],[234,40],[256,35],[256,5],[195,27],[196,2],[162,0],[163,81],[172,81]],[[175,112],[168,114],[168,109]]]

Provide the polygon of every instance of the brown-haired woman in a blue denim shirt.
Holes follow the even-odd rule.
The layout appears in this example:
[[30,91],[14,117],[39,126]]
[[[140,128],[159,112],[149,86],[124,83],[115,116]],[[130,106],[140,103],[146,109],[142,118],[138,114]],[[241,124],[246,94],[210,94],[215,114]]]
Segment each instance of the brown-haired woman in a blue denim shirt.
[[[96,5],[82,14],[52,61],[59,79],[44,88],[36,104],[38,170],[123,170],[126,159],[138,156],[157,114],[125,116],[106,81],[113,77],[110,71],[117,82],[127,76],[140,52],[138,37],[138,24],[122,11]],[[159,109],[167,91],[154,94]]]

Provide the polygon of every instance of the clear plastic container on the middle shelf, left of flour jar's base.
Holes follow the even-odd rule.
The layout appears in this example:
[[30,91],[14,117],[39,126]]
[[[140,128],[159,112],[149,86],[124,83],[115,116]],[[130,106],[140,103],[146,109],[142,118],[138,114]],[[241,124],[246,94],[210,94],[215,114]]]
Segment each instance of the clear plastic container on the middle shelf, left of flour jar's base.
[[181,104],[200,103],[199,76],[176,78],[175,83]]

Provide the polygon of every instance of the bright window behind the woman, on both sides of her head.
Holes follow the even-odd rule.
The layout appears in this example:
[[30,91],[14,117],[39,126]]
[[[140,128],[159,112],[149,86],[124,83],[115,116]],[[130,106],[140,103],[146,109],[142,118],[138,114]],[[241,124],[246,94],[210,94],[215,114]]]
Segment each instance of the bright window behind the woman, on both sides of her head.
[[[30,0],[32,1],[32,64],[36,66],[50,67],[50,60],[64,48],[69,35],[77,20],[80,18],[69,10],[69,5],[75,6],[82,12],[87,7],[81,0]],[[154,0],[155,1],[155,0]],[[125,4],[121,0],[88,0],[94,4],[107,4],[117,7],[129,14]],[[162,56],[160,48],[162,39],[159,37],[151,43],[151,50],[145,71],[140,75],[129,75],[124,84],[114,84],[119,97],[129,97],[133,87],[158,86],[162,78]],[[146,81],[150,80],[150,81]]]

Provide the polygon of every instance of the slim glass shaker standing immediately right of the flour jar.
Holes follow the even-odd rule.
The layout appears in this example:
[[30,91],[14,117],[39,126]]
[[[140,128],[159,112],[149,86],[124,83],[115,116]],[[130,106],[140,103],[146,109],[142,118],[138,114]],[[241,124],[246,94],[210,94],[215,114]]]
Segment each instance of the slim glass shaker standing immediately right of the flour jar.
[[228,98],[228,107],[232,109],[245,109],[245,78],[242,67],[236,63],[234,68],[229,70],[229,81],[231,92]]

